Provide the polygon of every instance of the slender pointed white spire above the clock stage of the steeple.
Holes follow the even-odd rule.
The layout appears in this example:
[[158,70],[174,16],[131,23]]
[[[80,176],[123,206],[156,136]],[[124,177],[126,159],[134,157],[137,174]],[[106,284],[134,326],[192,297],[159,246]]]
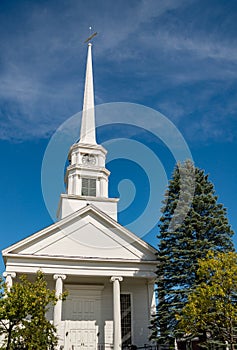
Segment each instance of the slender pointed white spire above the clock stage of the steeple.
[[92,70],[92,44],[88,44],[86,78],[84,101],[82,110],[81,133],[79,143],[95,145],[95,105],[94,105],[94,86],[93,86],[93,70]]

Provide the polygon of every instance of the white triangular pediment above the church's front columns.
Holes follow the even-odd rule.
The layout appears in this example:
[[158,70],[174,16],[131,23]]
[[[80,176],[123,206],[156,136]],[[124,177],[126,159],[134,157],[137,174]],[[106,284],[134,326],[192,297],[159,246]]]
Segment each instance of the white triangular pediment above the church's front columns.
[[155,249],[89,205],[5,249],[3,256],[155,260]]

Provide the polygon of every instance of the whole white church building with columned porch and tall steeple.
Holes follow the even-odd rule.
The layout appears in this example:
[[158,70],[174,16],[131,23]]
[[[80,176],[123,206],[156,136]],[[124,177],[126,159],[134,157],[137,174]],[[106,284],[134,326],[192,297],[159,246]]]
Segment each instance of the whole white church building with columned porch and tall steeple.
[[9,286],[41,270],[58,301],[48,317],[58,349],[119,350],[149,343],[156,250],[117,221],[106,153],[96,142],[92,44],[88,44],[80,140],[69,150],[58,221],[3,250]]

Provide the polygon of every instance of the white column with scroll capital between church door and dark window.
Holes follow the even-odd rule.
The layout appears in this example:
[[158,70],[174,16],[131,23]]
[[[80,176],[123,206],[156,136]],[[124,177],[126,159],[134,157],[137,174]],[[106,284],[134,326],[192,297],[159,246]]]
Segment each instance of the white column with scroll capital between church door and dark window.
[[114,350],[120,350],[122,347],[121,334],[121,310],[120,310],[120,282],[123,277],[113,276],[110,281],[113,282],[113,315],[114,315]]

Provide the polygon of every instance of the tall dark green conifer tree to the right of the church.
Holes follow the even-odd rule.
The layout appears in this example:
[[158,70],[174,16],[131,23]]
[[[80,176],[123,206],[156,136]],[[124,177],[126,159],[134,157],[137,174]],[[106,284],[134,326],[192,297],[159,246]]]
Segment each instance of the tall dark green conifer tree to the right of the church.
[[191,161],[178,164],[165,194],[159,223],[157,254],[157,314],[152,339],[172,344],[177,314],[198,284],[198,259],[208,251],[233,251],[233,231],[226,209],[217,203],[213,184]]

